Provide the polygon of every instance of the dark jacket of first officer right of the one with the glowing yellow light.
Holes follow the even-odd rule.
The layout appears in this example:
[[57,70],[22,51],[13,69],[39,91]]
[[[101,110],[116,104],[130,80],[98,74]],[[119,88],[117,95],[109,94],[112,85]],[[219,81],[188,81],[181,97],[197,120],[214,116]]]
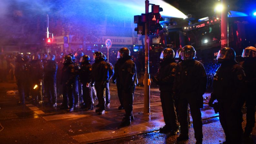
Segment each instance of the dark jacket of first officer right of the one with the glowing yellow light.
[[48,60],[44,63],[44,81],[50,80],[56,82],[57,62]]

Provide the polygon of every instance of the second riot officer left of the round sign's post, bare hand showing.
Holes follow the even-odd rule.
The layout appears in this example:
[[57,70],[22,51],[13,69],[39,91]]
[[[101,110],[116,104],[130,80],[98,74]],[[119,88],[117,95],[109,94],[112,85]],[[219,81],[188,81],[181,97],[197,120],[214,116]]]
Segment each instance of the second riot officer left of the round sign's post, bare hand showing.
[[90,57],[83,55],[81,57],[81,69],[79,71],[80,82],[83,88],[83,99],[85,110],[93,110],[93,91],[92,91],[92,65],[90,64]]

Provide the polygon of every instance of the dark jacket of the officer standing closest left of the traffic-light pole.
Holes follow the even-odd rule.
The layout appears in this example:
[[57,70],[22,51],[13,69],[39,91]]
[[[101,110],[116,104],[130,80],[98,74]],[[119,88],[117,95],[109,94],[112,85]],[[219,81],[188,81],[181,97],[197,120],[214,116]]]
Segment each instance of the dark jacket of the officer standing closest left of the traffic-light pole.
[[138,84],[136,65],[131,56],[123,57],[118,68],[121,89],[128,90],[131,86]]

